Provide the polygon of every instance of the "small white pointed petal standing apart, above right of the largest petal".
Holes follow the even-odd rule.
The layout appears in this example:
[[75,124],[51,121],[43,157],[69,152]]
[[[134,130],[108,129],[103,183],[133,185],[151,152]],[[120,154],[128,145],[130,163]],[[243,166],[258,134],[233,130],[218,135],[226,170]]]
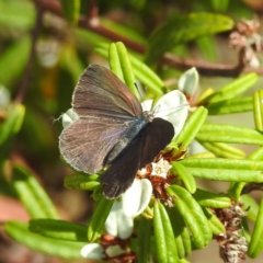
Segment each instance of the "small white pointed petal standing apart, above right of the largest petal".
[[179,79],[179,90],[184,94],[192,96],[199,83],[199,75],[195,68],[186,70]]

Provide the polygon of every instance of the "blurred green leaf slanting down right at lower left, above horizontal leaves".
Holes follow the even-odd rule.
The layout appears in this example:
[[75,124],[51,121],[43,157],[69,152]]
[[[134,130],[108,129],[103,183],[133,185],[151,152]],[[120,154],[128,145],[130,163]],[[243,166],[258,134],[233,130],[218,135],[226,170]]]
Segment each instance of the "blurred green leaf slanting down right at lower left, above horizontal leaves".
[[22,164],[13,165],[11,185],[32,218],[59,218],[44,188]]

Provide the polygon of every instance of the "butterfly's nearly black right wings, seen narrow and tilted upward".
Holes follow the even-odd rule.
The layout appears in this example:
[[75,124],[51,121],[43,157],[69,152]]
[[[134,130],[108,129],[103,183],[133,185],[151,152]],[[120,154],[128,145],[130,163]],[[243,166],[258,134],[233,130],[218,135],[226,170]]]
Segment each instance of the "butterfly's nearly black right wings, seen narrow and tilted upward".
[[115,198],[124,193],[134,182],[139,169],[150,163],[155,157],[171,141],[174,128],[162,118],[155,118],[124,149],[124,155],[114,162],[101,176],[105,184],[103,193]]

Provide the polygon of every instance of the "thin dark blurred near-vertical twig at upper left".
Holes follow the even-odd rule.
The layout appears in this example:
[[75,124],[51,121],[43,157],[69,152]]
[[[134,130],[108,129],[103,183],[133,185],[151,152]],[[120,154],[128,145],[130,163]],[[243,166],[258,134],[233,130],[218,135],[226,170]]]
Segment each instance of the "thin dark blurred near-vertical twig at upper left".
[[30,57],[28,57],[26,68],[24,70],[23,79],[21,81],[19,91],[18,91],[15,100],[14,100],[15,104],[20,104],[24,99],[24,95],[26,93],[26,89],[27,89],[30,80],[31,80],[32,65],[33,65],[34,59],[35,59],[36,41],[37,41],[39,28],[41,28],[41,25],[42,25],[43,11],[44,11],[42,9],[42,7],[39,7],[37,4],[35,7],[36,7],[36,21],[35,21],[35,26],[32,31],[32,45],[31,45],[31,50],[30,50]]

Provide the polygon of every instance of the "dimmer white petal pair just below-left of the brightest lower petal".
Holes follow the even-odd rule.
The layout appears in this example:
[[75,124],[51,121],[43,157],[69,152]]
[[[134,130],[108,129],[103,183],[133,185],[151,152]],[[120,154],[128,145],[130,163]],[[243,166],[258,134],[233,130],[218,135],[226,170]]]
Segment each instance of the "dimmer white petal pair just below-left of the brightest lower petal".
[[123,210],[122,203],[115,202],[105,222],[107,233],[121,239],[127,239],[134,230],[134,220]]

